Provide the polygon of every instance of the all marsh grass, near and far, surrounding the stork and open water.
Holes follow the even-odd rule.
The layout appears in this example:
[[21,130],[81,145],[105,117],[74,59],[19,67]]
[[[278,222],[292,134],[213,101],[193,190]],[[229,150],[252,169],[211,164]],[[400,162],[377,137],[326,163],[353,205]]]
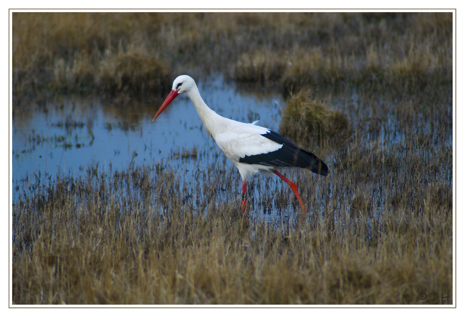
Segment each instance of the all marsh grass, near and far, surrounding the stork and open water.
[[[452,304],[452,13],[13,13],[12,22],[13,114],[44,111],[56,93],[127,100],[162,94],[180,73],[218,72],[279,89],[279,131],[331,171],[290,172],[309,210],[299,226],[291,190],[272,178],[252,180],[242,218],[239,174],[214,149],[173,149],[167,159],[189,161],[189,172],[97,165],[23,182],[14,304]],[[286,208],[290,219],[258,216]]]

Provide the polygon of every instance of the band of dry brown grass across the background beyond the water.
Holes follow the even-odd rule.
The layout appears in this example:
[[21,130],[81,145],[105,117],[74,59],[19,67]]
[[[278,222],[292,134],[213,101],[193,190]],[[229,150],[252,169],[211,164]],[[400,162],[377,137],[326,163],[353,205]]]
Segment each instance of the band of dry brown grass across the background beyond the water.
[[[153,85],[141,88],[146,69]],[[286,92],[346,82],[403,92],[431,77],[450,84],[452,13],[13,13],[18,96],[160,90],[171,69]]]

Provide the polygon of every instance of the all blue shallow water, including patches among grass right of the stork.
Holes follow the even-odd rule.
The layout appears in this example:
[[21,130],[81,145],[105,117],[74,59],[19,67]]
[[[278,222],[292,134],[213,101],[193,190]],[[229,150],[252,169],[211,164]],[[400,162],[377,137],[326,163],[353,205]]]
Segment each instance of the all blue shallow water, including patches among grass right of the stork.
[[[278,131],[280,107],[284,106],[279,92],[239,89],[221,78],[200,81],[198,86],[207,105],[219,114],[242,122],[259,119],[259,125]],[[214,189],[216,203],[233,201],[239,204],[242,193],[239,172],[207,135],[192,102],[179,96],[152,122],[162,102],[163,99],[140,101],[129,98],[121,103],[120,100],[102,99],[95,95],[59,95],[53,100],[40,101],[40,105],[31,106],[35,110],[30,113],[15,115],[13,203],[23,191],[28,192],[27,188],[29,192],[35,190],[34,184],[38,180],[43,185],[47,179],[53,180],[59,173],[80,177],[86,175],[89,166],[98,165],[98,171],[103,172],[124,171],[130,166],[162,165],[178,174],[179,191],[185,196],[186,203],[192,204],[194,208],[205,212],[204,205],[196,205],[198,200],[205,202],[207,197],[201,186],[197,185],[200,184],[199,175],[203,173],[205,178],[205,171],[211,167],[215,167],[214,173],[218,174],[214,183],[218,186]],[[406,147],[405,130],[399,128],[396,112],[392,111],[396,105],[388,101],[383,103],[387,109],[384,109],[387,111],[387,120],[379,123],[378,128],[376,123],[379,119],[373,115],[373,107],[366,105],[366,101],[359,99],[355,92],[349,94],[349,97],[336,96],[331,100],[331,107],[347,113],[349,120],[354,123],[361,121],[358,128],[366,130],[359,133],[356,143],[364,146],[366,151],[378,146],[383,155],[399,155],[397,150]],[[371,125],[367,124],[370,120],[375,123],[374,129],[370,129]],[[426,135],[428,132],[427,135],[433,141],[439,138],[441,134],[434,129],[440,125],[432,127],[428,120],[423,121],[425,124],[412,127],[418,130],[416,133]],[[449,144],[452,145],[452,137],[449,138]],[[431,157],[438,154],[438,147],[434,149],[420,153]],[[191,155],[193,152],[195,154]],[[327,151],[324,157],[328,165],[337,163],[331,151]],[[312,177],[300,177],[305,173]],[[445,172],[445,175],[452,174]],[[324,216],[323,205],[332,199],[332,186],[338,186],[337,183],[326,181],[334,176],[331,174],[328,178],[322,178],[308,171],[288,176],[305,189],[306,192],[300,192],[301,195],[309,195],[308,199],[317,198],[312,203],[307,199],[310,203],[308,217]],[[378,197],[377,209],[381,210],[385,200],[379,195],[377,184],[365,185],[376,192],[372,195]],[[257,176],[248,184],[248,190],[252,218],[264,218],[268,222],[284,225],[296,220],[300,208],[295,200],[292,205],[294,195],[279,178]],[[337,198],[343,199],[343,202],[336,203],[338,212],[334,213],[335,221],[350,212],[348,204],[355,193],[348,190],[343,197]]]

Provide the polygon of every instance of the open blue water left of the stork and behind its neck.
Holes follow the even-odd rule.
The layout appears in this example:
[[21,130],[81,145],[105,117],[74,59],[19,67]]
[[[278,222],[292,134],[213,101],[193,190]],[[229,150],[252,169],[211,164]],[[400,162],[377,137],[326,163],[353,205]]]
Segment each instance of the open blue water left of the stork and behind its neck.
[[[279,92],[238,90],[221,78],[199,81],[198,86],[207,105],[220,115],[242,122],[259,120],[259,125],[278,131],[283,104]],[[27,187],[38,179],[44,183],[57,173],[79,177],[95,164],[103,171],[162,162],[179,175],[187,175],[194,168],[207,168],[221,159],[226,168],[233,168],[203,129],[195,107],[186,97],[179,96],[152,122],[162,102],[157,99],[120,106],[111,100],[103,102],[98,96],[61,95],[32,107],[39,110],[30,115],[17,116],[13,119],[13,202],[22,193],[23,184]],[[195,159],[179,159],[184,150],[194,148],[198,153]],[[184,179],[181,185],[192,181],[191,177]],[[279,183],[270,182],[281,186]],[[239,199],[240,181],[236,187],[237,193],[220,193],[219,199]],[[270,221],[286,220],[295,213],[291,206],[268,211],[257,208],[256,215]]]

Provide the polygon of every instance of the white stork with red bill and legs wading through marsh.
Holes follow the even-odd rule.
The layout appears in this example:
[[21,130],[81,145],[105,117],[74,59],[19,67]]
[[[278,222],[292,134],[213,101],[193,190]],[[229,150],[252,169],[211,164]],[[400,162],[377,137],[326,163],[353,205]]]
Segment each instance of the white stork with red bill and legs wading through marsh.
[[213,138],[221,152],[229,158],[239,170],[242,177],[242,213],[246,211],[247,185],[246,181],[255,173],[272,175],[282,178],[299,200],[300,207],[306,212],[300,199],[297,185],[279,173],[278,169],[309,169],[310,171],[326,176],[328,166],[315,154],[301,149],[282,135],[270,129],[252,123],[243,123],[224,118],[210,109],[200,96],[199,88],[194,79],[181,75],[174,79],[173,90],[166,97],[153,120],[180,93],[185,93],[199,113],[200,120],[206,132]]

